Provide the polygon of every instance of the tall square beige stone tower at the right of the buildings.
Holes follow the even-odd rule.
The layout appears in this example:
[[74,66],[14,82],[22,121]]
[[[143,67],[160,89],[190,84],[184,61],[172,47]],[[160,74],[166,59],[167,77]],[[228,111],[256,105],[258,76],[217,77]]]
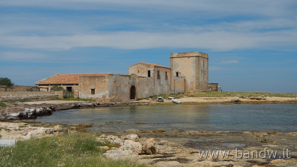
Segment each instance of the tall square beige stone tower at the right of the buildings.
[[170,53],[171,76],[184,77],[185,92],[207,91],[208,54],[201,52]]

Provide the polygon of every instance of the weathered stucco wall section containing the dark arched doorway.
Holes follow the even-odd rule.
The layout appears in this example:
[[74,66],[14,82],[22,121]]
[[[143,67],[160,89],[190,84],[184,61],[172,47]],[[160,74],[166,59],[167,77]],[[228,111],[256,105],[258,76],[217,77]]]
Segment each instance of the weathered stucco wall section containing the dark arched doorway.
[[109,75],[110,97],[118,96],[121,101],[130,100],[130,89],[135,86],[135,99],[145,98],[154,94],[154,79],[131,75]]

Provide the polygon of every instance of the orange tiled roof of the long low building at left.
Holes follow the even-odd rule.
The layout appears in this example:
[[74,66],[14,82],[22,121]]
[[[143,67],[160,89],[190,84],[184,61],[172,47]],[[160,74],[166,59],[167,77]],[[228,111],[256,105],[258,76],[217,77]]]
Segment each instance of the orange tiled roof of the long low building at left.
[[36,84],[78,84],[79,76],[104,76],[112,73],[94,73],[94,74],[56,74],[45,78]]

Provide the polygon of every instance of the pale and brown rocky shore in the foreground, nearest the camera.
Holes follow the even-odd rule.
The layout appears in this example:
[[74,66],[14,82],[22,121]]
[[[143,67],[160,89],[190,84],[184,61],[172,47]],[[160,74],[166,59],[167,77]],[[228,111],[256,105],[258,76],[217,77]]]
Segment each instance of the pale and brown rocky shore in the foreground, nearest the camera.
[[[0,122],[3,139],[26,140],[44,136],[78,133],[88,125]],[[131,158],[156,167],[293,167],[297,166],[297,133],[240,131],[125,130],[102,133],[97,140],[118,147],[98,147],[103,156],[118,160]],[[203,152],[207,154],[202,155]],[[209,151],[209,153],[206,153]],[[222,156],[221,153],[228,153]],[[274,152],[274,156],[270,156]],[[284,154],[285,153],[285,154]],[[211,157],[213,154],[213,157]],[[257,157],[256,157],[256,154]],[[252,157],[253,155],[253,157]]]

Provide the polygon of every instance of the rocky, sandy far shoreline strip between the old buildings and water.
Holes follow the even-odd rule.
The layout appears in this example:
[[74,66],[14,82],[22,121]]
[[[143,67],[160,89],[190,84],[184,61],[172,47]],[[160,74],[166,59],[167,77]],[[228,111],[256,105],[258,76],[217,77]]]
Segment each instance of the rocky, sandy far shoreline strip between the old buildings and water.
[[[183,97],[179,100],[181,104],[243,104],[243,103],[297,103],[296,98],[287,97]],[[127,105],[157,105],[172,104],[170,99],[164,99],[164,102],[157,102],[155,99],[144,99],[140,101],[129,102],[77,102],[77,101],[35,101],[26,103],[7,103],[7,107],[0,107],[0,121],[35,119],[37,116],[51,115],[56,110],[68,110],[83,107],[112,107]]]

